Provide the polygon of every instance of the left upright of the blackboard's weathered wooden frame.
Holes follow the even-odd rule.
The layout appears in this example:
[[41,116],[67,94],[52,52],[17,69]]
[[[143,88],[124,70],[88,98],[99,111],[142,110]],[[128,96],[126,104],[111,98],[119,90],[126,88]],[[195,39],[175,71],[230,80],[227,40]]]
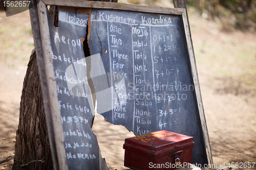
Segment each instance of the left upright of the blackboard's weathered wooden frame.
[[[44,98],[53,167],[54,169],[68,169],[66,158],[63,157],[63,155],[66,154],[63,145],[63,129],[57,126],[61,125],[61,117],[60,110],[56,107],[58,106],[57,89],[54,72],[53,69],[51,69],[53,68],[52,60],[49,55],[51,52],[51,43],[46,5],[41,1],[31,1],[31,3],[33,4],[33,8],[30,9],[30,18],[35,41],[41,90]],[[52,122],[54,122],[54,124]]]

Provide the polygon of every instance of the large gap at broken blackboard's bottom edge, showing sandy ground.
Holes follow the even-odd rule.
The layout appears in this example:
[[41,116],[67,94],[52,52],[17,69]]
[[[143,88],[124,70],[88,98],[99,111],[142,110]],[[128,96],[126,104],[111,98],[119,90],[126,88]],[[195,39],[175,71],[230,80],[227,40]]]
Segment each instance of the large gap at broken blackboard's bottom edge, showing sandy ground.
[[110,169],[129,169],[123,166],[124,139],[135,136],[124,126],[113,125],[100,114],[95,115],[93,133],[97,136],[102,158]]

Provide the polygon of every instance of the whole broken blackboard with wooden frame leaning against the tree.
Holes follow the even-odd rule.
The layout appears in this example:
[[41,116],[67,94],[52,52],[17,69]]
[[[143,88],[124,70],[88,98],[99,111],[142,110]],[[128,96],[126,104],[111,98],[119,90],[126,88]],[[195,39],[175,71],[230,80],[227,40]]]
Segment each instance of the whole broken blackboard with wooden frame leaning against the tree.
[[40,33],[59,168],[107,169],[91,130],[96,113],[135,135],[193,136],[192,163],[211,163],[185,10],[93,3],[59,8],[58,28],[41,13],[47,21],[41,27],[49,30]]

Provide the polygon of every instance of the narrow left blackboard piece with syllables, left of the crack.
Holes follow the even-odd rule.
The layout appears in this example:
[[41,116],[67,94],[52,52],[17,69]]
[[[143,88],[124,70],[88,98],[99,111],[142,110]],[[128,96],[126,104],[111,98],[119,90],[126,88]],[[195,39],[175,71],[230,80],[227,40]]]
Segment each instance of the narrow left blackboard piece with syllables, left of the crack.
[[[59,27],[55,29],[50,23],[51,54],[69,169],[99,169],[99,148],[91,130],[93,108],[87,90],[88,65],[81,40],[86,37],[88,19],[89,15],[59,10]],[[120,32],[118,28],[113,31]]]

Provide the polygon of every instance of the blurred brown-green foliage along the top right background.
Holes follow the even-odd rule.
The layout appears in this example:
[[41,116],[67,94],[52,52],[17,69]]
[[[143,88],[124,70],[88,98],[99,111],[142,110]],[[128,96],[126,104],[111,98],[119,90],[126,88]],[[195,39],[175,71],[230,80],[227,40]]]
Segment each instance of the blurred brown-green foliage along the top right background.
[[[120,3],[173,7],[173,0],[119,0]],[[186,0],[205,19],[220,20],[225,31],[256,31],[256,0]]]

